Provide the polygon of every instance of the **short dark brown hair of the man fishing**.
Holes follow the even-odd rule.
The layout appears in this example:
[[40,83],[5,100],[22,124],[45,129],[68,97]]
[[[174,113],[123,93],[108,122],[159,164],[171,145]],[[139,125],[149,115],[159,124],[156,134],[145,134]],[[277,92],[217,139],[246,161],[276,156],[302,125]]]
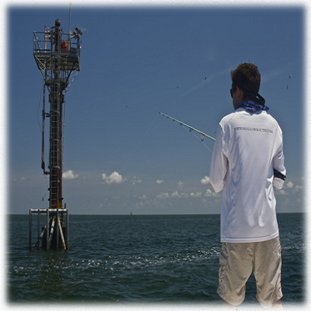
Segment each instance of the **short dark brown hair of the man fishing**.
[[[256,96],[261,86],[261,74],[256,65],[244,63],[238,65],[231,71],[232,86],[240,86],[243,91],[246,89],[249,93]],[[245,93],[245,92],[244,92]],[[247,94],[244,94],[247,97]]]

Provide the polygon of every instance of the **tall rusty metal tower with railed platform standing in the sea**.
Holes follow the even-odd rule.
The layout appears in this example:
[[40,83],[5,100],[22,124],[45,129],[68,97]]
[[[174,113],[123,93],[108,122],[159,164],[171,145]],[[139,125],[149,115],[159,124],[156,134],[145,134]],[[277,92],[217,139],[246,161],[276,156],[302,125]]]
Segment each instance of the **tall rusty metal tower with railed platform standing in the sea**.
[[[82,30],[75,27],[69,33],[62,32],[60,21],[56,19],[55,26],[46,28],[44,32],[34,32],[33,55],[44,78],[44,98],[42,111],[42,151],[41,168],[45,175],[50,176],[48,209],[30,209],[29,245],[31,248],[32,214],[46,214],[46,226],[42,228],[36,246],[49,248],[59,247],[59,237],[62,238],[64,249],[68,248],[68,209],[63,206],[62,197],[62,164],[63,164],[63,104],[64,95],[73,83],[80,70],[80,37]],[[50,112],[45,111],[46,88]],[[48,171],[44,162],[44,124],[50,118],[50,149]],[[64,217],[66,216],[66,217]],[[66,219],[65,219],[66,218]],[[56,234],[53,234],[56,231]],[[38,230],[39,232],[39,230]]]

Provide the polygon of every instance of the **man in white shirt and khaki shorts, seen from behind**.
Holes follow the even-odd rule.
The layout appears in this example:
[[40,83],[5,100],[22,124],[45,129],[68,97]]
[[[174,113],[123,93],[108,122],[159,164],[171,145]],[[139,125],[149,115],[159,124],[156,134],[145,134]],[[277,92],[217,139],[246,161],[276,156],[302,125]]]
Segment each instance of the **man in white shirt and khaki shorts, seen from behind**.
[[219,123],[209,172],[214,190],[223,190],[217,292],[224,303],[241,304],[254,270],[258,301],[265,308],[281,307],[281,245],[273,186],[281,189],[285,180],[282,131],[258,94],[257,66],[240,64],[231,75],[235,111]]

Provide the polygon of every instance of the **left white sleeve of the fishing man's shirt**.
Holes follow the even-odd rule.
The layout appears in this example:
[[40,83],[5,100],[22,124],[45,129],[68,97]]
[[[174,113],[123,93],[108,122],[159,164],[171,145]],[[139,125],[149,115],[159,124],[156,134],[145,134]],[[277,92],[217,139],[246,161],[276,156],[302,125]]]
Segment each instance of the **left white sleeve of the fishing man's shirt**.
[[225,187],[225,176],[227,174],[227,157],[223,151],[223,144],[224,133],[219,124],[216,133],[214,151],[211,156],[211,165],[209,168],[209,181],[216,192],[223,190]]

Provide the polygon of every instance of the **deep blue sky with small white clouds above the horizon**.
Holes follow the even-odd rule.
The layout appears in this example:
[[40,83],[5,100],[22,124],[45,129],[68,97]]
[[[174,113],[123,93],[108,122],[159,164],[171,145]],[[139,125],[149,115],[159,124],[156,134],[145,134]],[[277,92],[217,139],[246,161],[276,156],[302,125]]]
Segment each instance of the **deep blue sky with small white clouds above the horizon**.
[[220,213],[221,192],[209,183],[214,142],[201,142],[159,112],[215,136],[218,122],[234,110],[230,71],[243,62],[258,66],[260,94],[283,130],[287,179],[275,189],[276,210],[305,211],[303,2],[71,3],[6,6],[7,214],[48,207],[43,78],[32,54],[33,32],[57,18],[68,32],[70,11],[70,28],[83,31],[81,70],[64,104],[63,196],[70,214]]

